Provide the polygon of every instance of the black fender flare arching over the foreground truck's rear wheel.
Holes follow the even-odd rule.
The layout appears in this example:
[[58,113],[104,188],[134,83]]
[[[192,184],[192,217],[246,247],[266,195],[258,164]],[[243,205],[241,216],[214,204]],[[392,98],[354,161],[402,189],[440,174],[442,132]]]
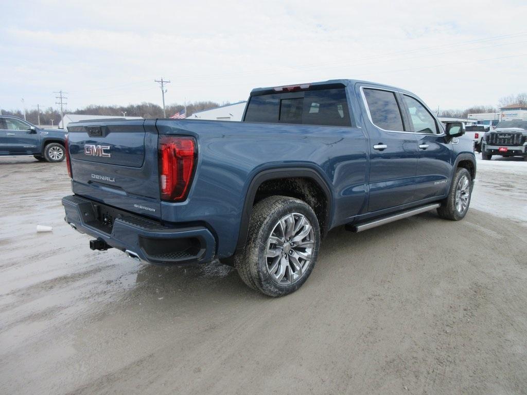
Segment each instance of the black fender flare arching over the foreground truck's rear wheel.
[[241,213],[240,230],[238,233],[238,242],[236,243],[236,252],[242,251],[245,248],[245,244],[247,242],[247,232],[249,230],[249,220],[251,218],[252,213],[252,203],[255,201],[256,191],[258,190],[259,186],[265,181],[274,179],[284,179],[288,177],[301,177],[305,179],[310,179],[313,180],[318,186],[320,186],[320,189],[326,195],[327,200],[327,210],[325,218],[326,229],[321,230],[321,233],[323,235],[327,233],[327,231],[329,230],[329,219],[331,218],[332,195],[328,184],[316,170],[310,169],[309,167],[281,167],[279,169],[263,170],[252,178],[247,192],[245,194],[245,201],[243,202],[243,211]]

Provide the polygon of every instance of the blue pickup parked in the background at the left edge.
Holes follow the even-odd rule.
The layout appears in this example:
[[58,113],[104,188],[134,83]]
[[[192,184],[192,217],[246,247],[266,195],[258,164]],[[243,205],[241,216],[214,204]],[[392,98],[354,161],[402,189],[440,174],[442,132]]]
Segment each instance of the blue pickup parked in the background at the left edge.
[[62,162],[65,140],[62,129],[41,129],[16,116],[0,116],[0,156],[33,155],[39,161]]

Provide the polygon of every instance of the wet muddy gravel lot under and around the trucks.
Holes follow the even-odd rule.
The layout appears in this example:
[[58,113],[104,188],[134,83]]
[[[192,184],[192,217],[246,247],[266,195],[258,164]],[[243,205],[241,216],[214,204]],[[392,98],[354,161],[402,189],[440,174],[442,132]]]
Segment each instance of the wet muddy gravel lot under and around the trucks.
[[0,393],[527,393],[518,160],[479,161],[464,221],[331,231],[269,299],[217,263],[92,252],[63,221],[65,165],[0,159]]

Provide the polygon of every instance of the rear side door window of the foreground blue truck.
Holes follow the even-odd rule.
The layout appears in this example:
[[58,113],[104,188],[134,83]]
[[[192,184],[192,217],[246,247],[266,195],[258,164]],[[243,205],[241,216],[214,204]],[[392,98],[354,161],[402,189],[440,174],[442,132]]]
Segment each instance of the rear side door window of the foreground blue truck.
[[363,91],[375,126],[387,131],[404,131],[403,117],[394,92],[370,88]]

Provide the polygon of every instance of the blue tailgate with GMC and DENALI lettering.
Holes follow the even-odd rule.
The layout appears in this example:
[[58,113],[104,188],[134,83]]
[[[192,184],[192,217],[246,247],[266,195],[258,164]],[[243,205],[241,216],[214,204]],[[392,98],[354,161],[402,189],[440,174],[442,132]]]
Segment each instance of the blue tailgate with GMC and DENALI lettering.
[[73,192],[116,208],[160,218],[158,133],[148,121],[68,126]]

